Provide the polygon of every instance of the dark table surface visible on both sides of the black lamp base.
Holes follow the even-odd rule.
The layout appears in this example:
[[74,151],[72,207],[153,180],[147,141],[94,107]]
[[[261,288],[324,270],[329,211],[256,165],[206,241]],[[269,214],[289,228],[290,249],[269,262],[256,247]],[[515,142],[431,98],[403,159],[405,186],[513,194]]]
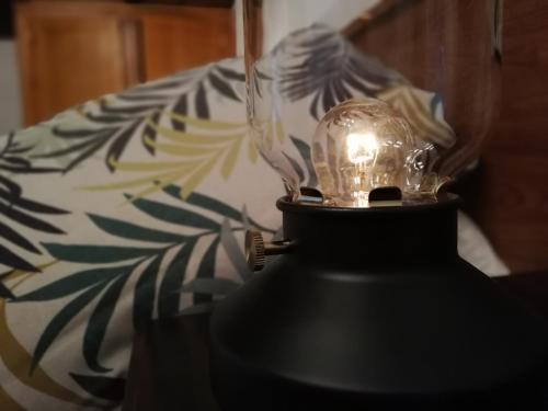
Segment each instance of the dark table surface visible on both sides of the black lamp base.
[[[548,319],[548,271],[496,282]],[[124,411],[220,411],[209,387],[209,316],[156,320],[136,333]]]

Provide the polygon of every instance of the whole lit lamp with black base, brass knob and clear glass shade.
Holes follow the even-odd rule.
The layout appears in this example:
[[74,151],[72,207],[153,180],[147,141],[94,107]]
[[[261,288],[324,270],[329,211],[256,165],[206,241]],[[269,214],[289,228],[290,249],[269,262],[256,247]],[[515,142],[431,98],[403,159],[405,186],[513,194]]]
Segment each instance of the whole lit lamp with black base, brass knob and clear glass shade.
[[458,255],[446,190],[495,122],[500,3],[243,1],[250,133],[287,193],[212,319],[222,410],[541,403],[546,324]]

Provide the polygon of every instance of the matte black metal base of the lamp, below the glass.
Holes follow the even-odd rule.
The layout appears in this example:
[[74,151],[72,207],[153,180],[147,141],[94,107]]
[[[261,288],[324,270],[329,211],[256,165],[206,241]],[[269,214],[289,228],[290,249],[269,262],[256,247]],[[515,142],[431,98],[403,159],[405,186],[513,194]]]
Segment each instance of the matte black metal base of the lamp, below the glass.
[[548,327],[458,256],[457,203],[278,201],[292,253],[212,318],[222,410],[545,409]]

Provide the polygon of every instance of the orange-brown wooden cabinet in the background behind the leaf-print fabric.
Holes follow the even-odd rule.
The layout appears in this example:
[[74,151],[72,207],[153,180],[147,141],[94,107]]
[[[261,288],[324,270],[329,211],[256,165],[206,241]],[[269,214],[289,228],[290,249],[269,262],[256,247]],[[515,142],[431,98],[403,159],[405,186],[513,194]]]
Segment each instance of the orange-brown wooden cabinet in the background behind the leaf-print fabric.
[[18,2],[25,125],[138,82],[233,56],[230,4]]

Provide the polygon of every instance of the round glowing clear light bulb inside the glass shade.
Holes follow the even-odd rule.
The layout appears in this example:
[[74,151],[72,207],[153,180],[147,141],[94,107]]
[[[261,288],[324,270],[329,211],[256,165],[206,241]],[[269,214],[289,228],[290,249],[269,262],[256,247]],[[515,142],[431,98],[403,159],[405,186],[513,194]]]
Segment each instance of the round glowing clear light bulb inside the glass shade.
[[438,159],[396,110],[377,99],[349,100],[320,121],[312,162],[326,204],[369,206],[369,193],[397,187],[403,199],[432,201]]

